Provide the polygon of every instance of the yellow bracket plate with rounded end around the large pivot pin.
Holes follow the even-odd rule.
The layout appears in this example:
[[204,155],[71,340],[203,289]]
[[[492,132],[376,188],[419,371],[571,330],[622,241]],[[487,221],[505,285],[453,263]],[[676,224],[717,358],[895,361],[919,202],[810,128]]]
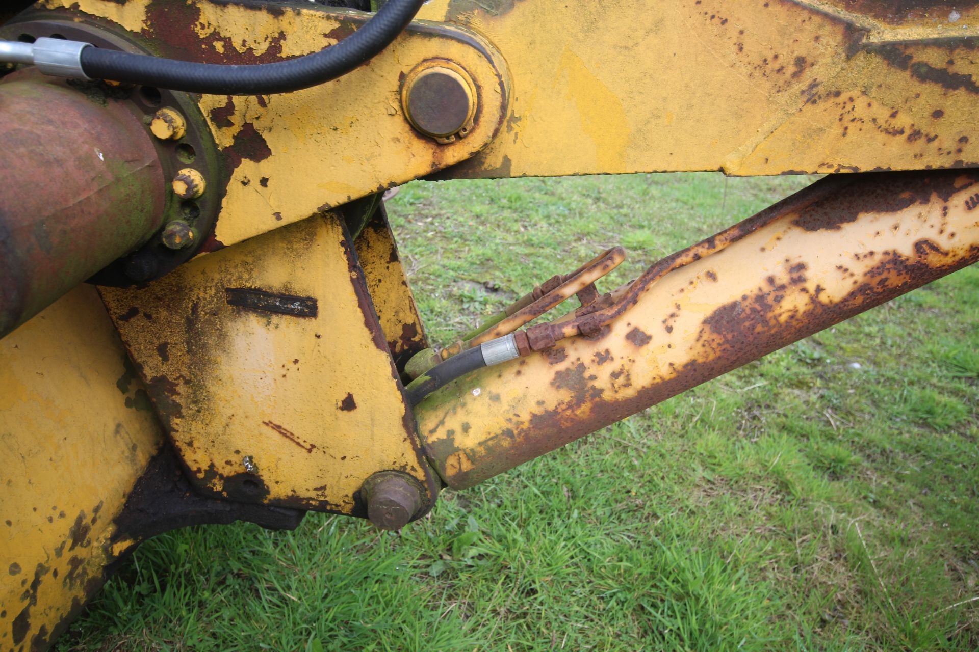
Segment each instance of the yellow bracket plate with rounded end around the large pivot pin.
[[[317,52],[370,18],[310,3],[131,0],[129,6],[143,12],[120,13],[117,3],[103,0],[49,0],[24,16],[97,25],[169,59],[222,65],[281,62]],[[266,33],[270,27],[277,30],[275,38]],[[471,117],[466,111],[465,138],[447,144],[417,131],[400,99],[404,75],[435,59],[464,70],[472,83],[469,97],[478,101]],[[328,83],[269,96],[197,97],[216,143],[221,178],[218,184],[209,181],[220,206],[205,250],[469,158],[503,127],[509,94],[506,62],[483,36],[459,25],[412,22],[384,52]]]

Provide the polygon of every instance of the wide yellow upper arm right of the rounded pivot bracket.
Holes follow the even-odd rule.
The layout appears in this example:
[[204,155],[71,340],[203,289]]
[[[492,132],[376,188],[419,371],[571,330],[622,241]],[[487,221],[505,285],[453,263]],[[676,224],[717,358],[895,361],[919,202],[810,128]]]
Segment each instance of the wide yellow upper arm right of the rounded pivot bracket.
[[855,4],[433,0],[419,17],[485,35],[514,93],[489,148],[438,176],[979,164],[979,62],[950,40],[979,37],[979,11],[884,22]]

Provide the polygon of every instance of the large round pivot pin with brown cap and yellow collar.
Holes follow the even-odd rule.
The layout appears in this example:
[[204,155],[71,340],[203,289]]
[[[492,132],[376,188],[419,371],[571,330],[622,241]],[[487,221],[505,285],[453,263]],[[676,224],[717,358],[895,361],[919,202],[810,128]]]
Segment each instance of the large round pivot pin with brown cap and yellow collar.
[[417,131],[442,144],[465,138],[477,109],[476,85],[461,66],[443,59],[416,65],[401,85],[401,107]]

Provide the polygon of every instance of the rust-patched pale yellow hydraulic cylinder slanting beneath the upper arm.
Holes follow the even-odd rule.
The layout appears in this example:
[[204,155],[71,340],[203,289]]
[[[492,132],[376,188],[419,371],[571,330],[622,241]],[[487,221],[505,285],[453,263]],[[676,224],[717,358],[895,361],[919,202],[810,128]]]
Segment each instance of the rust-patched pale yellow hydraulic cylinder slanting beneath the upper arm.
[[421,402],[445,483],[471,487],[976,262],[979,171],[827,178],[709,248],[654,265],[596,332]]

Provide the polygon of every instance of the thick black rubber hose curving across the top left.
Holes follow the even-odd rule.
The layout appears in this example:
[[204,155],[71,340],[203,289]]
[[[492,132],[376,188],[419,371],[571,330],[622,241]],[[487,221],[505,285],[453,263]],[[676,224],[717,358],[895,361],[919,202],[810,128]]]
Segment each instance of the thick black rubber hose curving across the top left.
[[384,50],[424,0],[389,0],[362,27],[320,52],[274,64],[195,64],[88,47],[81,68],[92,79],[210,95],[269,95],[336,79]]

